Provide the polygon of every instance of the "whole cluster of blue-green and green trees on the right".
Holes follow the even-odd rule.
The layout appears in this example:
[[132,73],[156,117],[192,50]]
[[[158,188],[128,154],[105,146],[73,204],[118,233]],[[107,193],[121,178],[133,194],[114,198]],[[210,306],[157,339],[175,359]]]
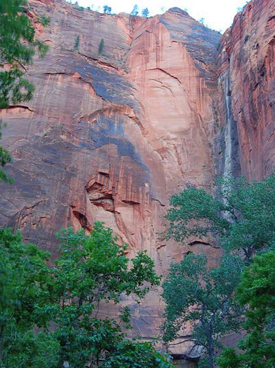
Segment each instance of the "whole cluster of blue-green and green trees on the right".
[[[163,284],[164,339],[174,341],[191,324],[189,354],[195,347],[202,348],[200,367],[272,368],[275,174],[252,183],[243,177],[222,178],[215,193],[189,187],[170,198],[167,239],[187,245],[207,237],[219,244],[221,257],[212,269],[203,253],[187,254],[171,265]],[[238,344],[243,352],[225,348],[217,358],[221,337],[230,332],[246,332]]]

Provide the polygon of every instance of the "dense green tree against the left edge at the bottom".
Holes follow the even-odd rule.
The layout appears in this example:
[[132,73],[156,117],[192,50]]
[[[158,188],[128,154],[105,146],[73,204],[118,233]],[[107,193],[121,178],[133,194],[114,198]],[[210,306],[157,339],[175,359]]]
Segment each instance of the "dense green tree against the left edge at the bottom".
[[52,291],[47,260],[49,253],[25,246],[19,233],[0,229],[1,367],[56,367],[58,342],[44,332]]

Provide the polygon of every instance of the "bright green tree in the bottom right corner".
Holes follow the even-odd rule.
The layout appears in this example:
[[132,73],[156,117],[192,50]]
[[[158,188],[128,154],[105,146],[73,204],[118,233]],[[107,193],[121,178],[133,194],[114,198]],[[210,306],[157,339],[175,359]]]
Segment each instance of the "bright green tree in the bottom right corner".
[[275,253],[266,251],[253,257],[253,263],[241,275],[236,298],[246,307],[239,341],[242,354],[224,349],[218,358],[221,368],[275,367]]

